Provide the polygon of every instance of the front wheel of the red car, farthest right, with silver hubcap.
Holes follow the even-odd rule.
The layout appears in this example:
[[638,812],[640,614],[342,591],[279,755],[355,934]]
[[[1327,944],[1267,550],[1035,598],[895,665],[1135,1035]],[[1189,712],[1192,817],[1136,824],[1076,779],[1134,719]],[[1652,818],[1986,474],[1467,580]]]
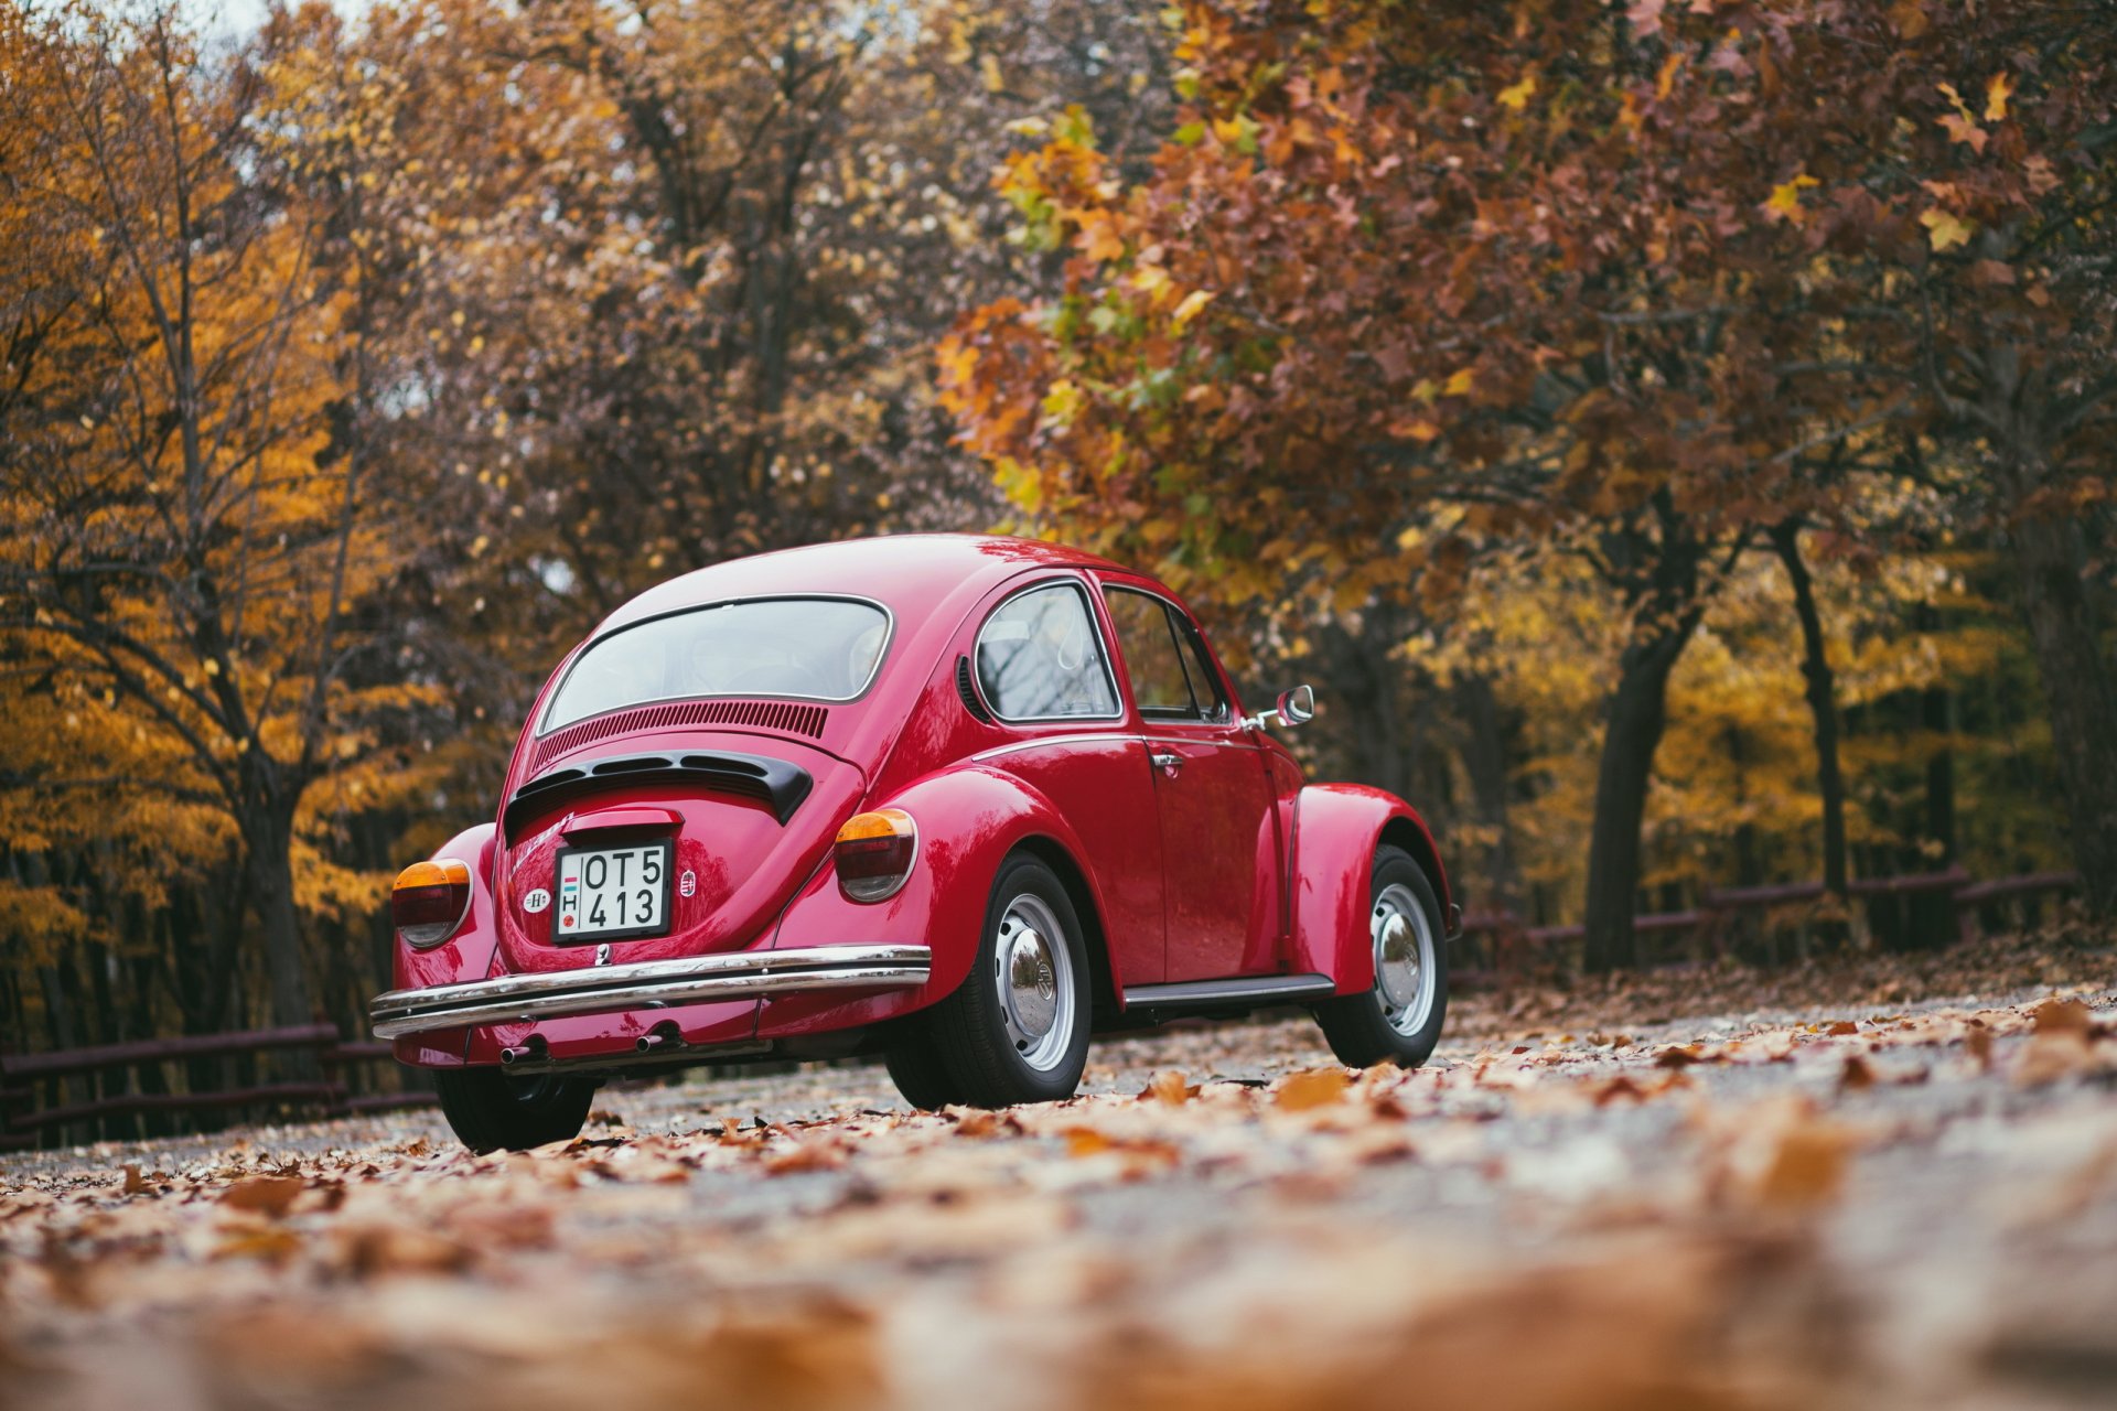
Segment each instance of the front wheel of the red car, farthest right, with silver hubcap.
[[1433,1053],[1448,1015],[1442,905],[1425,867],[1389,844],[1374,850],[1370,897],[1374,988],[1319,1003],[1317,1024],[1332,1053],[1353,1068],[1385,1062],[1416,1068]]

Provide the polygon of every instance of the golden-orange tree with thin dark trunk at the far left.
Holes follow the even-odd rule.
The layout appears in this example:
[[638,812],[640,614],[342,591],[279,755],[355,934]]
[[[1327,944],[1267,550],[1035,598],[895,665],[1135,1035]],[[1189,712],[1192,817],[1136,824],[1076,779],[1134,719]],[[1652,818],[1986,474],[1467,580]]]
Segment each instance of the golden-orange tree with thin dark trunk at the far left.
[[[23,80],[0,182],[55,264],[11,264],[0,630],[68,747],[19,787],[152,791],[241,842],[279,1024],[311,1018],[294,853],[305,795],[373,721],[430,698],[356,685],[392,567],[332,457],[343,288],[320,214],[265,184],[260,85],[171,11],[11,11]],[[91,793],[93,791],[93,793]],[[235,931],[224,933],[233,946]],[[224,1013],[231,954],[203,996]]]

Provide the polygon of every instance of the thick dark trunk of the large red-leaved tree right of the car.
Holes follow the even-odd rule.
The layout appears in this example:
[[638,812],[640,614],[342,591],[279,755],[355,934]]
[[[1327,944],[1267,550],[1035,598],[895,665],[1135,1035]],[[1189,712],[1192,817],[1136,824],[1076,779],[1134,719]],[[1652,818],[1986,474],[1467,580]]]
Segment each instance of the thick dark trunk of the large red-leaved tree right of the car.
[[1639,963],[1632,908],[1639,901],[1641,831],[1653,751],[1668,723],[1668,675],[1698,628],[1685,611],[1624,649],[1617,690],[1605,711],[1603,757],[1596,766],[1594,825],[1588,833],[1588,916],[1584,960],[1590,973]]

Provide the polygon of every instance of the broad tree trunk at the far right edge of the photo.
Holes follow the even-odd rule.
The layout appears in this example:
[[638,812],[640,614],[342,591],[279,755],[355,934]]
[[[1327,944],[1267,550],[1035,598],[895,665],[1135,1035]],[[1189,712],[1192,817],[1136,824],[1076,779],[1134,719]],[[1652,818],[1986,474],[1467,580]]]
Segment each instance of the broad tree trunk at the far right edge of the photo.
[[2075,527],[2049,514],[2022,518],[2013,561],[2087,910],[2117,920],[2117,683],[2081,582]]

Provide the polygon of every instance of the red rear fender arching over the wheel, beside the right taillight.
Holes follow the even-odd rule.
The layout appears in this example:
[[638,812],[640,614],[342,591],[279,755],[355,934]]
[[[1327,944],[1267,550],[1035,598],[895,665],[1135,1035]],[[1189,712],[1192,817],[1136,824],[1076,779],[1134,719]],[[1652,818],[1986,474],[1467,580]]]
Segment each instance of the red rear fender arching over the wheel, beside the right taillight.
[[[1042,838],[1063,848],[1075,863],[1084,857],[1080,840],[1052,802],[1020,778],[997,770],[957,768],[927,774],[887,800],[868,800],[862,808],[902,808],[919,825],[919,857],[904,891],[889,901],[853,901],[838,888],[838,874],[826,861],[788,905],[773,946],[927,946],[934,952],[931,975],[917,990],[857,998],[826,990],[766,998],[758,1037],[874,1024],[948,996],[970,975],[972,956],[984,933],[993,876],[1008,853],[1031,838]],[[1090,905],[1101,916],[1103,897],[1094,876],[1086,867],[1080,867],[1080,876]],[[1097,927],[1094,918],[1082,920]],[[1122,977],[1114,973],[1111,982],[1122,992]]]

